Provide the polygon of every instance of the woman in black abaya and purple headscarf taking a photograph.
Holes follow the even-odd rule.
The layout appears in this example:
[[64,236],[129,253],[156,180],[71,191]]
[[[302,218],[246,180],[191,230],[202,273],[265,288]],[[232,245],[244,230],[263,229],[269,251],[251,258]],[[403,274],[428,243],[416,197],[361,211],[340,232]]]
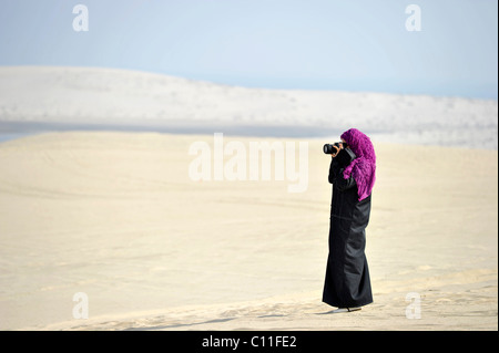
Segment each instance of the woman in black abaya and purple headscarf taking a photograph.
[[376,179],[376,155],[369,137],[356,128],[343,133],[342,142],[340,148],[332,155],[329,167],[333,201],[323,293],[323,302],[338,308],[334,312],[359,310],[373,302],[364,249]]

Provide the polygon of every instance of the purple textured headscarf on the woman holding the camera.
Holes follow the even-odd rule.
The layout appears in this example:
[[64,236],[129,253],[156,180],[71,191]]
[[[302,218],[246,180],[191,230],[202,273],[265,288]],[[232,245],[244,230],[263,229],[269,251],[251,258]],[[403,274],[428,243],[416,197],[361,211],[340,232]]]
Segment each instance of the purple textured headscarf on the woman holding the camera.
[[357,183],[358,200],[370,195],[376,180],[376,154],[370,138],[356,128],[343,133],[342,138],[355,153],[355,158],[343,172],[343,177],[354,177]]

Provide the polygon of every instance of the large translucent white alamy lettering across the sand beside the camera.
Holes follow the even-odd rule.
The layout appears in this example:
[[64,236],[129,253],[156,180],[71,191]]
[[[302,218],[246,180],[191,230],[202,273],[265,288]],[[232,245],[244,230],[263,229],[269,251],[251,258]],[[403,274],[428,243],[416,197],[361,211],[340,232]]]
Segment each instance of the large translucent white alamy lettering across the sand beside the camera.
[[[249,142],[224,144],[223,133],[213,135],[213,147],[197,141],[189,147],[189,154],[196,157],[189,165],[191,180],[271,180],[274,165],[274,180],[287,180],[288,193],[304,193],[308,188],[308,143]],[[272,163],[274,156],[274,164]],[[297,158],[296,158],[297,157]]]

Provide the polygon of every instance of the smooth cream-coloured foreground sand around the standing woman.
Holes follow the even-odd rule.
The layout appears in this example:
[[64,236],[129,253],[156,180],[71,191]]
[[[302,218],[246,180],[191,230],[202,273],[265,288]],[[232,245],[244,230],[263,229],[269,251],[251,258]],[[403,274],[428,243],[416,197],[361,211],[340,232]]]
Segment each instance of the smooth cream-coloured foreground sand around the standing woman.
[[332,314],[324,142],[308,141],[307,189],[288,193],[286,179],[191,179],[195,141],[213,135],[1,143],[0,329],[498,330],[497,150],[375,144],[375,302]]

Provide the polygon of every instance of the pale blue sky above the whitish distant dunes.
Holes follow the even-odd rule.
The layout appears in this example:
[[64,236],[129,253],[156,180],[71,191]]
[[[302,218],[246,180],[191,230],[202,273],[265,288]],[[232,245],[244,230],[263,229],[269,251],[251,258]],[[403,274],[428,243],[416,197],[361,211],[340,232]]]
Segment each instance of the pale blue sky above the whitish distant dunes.
[[[496,98],[496,0],[0,0],[0,65]],[[89,31],[75,32],[75,4]],[[421,9],[409,32],[405,9]]]

